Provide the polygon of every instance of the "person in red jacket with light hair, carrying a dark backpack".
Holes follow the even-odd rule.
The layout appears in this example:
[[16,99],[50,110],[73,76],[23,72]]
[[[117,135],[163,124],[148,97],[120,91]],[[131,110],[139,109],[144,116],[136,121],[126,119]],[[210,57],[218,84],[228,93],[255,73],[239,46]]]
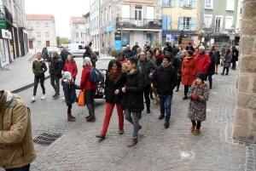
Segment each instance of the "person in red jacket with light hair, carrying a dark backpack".
[[95,121],[95,108],[94,108],[94,97],[96,94],[97,83],[94,83],[90,77],[90,72],[93,71],[94,67],[91,64],[90,58],[84,58],[84,69],[82,71],[80,89],[84,90],[85,93],[85,104],[89,111],[89,116],[85,117],[87,122]]

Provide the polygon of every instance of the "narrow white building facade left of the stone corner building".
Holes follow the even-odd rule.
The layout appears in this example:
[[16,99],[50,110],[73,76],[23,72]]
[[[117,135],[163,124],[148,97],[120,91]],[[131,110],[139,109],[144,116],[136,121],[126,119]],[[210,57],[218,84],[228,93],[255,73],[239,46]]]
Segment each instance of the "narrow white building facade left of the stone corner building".
[[100,0],[90,0],[90,37],[94,39],[91,48],[96,50],[100,50],[102,47],[100,43],[99,4]]

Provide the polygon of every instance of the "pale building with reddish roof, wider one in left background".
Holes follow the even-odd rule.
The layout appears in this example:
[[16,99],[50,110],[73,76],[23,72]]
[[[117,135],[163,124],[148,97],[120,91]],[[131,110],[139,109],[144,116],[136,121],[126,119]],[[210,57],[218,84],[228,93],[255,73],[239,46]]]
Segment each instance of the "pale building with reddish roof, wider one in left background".
[[26,14],[29,49],[41,52],[42,48],[57,46],[55,17],[52,14]]

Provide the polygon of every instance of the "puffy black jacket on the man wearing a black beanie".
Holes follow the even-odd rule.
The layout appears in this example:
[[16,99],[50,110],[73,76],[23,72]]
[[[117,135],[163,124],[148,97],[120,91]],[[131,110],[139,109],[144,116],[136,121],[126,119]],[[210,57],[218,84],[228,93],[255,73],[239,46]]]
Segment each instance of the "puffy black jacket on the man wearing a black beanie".
[[160,97],[172,95],[177,86],[177,70],[169,63],[168,66],[157,66],[153,74],[153,85]]

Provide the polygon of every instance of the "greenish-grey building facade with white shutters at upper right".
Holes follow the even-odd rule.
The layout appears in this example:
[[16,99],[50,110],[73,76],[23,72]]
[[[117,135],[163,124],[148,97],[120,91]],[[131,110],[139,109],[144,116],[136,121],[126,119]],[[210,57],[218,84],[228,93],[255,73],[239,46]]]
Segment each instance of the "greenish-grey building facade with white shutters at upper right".
[[[201,0],[199,30],[205,43],[237,44],[239,35],[236,31],[238,0]],[[234,35],[235,40],[230,41]]]

